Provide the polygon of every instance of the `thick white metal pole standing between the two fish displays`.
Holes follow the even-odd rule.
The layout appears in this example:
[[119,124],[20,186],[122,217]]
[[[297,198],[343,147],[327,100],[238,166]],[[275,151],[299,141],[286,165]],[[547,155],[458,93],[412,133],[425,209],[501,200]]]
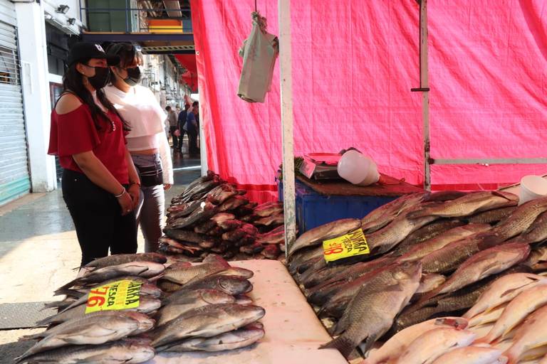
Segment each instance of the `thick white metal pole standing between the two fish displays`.
[[278,0],[279,66],[281,79],[281,134],[283,136],[283,205],[285,255],[296,240],[294,192],[293,76],[291,55],[291,1]]

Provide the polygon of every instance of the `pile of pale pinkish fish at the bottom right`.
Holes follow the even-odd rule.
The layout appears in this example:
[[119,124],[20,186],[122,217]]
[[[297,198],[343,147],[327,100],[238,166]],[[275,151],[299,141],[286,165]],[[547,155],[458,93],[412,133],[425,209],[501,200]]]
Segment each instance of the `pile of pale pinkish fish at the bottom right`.
[[463,317],[430,319],[399,331],[364,364],[547,363],[547,277],[506,274]]

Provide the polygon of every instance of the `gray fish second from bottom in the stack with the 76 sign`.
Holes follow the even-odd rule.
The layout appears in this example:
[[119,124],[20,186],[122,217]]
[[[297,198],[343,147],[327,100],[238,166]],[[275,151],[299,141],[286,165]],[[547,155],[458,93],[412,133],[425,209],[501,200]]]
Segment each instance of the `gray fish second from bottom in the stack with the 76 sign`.
[[[59,333],[73,333],[75,331],[81,331],[82,335],[85,335],[85,331],[83,331],[83,328],[88,327],[89,325],[98,325],[98,330],[96,332],[100,333],[100,330],[103,330],[104,326],[100,326],[102,322],[110,321],[112,320],[118,320],[118,319],[125,319],[130,318],[134,320],[137,323],[137,327],[134,331],[132,331],[132,335],[137,335],[139,333],[145,333],[146,331],[149,331],[154,326],[155,321],[150,319],[145,314],[141,314],[140,312],[135,311],[98,311],[96,314],[93,315],[85,315],[83,317],[75,318],[70,321],[65,321],[57,326],[54,326],[53,328],[48,328],[46,331],[42,331],[41,333],[35,333],[33,335],[23,336],[19,338],[20,341],[27,341],[27,340],[38,340],[42,338],[46,338],[47,336],[57,335]],[[100,327],[99,327],[100,326]],[[107,333],[107,331],[104,331]],[[41,343],[41,342],[40,342]]]

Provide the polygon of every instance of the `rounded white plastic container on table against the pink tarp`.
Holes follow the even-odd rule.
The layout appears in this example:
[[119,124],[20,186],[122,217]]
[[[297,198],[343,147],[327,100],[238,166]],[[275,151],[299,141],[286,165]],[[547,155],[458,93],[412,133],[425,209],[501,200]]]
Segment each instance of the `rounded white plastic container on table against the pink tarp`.
[[380,179],[375,162],[358,151],[346,151],[338,161],[338,174],[354,185],[368,186]]

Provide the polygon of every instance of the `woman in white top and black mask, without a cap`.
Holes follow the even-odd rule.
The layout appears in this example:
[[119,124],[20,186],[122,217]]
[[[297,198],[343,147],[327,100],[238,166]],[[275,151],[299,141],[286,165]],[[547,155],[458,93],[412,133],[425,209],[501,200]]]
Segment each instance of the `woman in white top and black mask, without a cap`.
[[105,87],[108,100],[131,125],[127,149],[140,175],[141,201],[137,208],[137,225],[145,236],[145,251],[155,252],[162,236],[165,192],[173,184],[170,147],[164,132],[165,112],[155,95],[139,85],[142,78],[142,54],[130,43],[115,43],[108,55],[120,57],[111,67],[113,79]]

